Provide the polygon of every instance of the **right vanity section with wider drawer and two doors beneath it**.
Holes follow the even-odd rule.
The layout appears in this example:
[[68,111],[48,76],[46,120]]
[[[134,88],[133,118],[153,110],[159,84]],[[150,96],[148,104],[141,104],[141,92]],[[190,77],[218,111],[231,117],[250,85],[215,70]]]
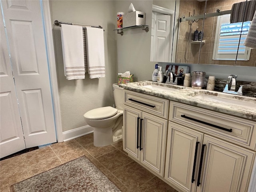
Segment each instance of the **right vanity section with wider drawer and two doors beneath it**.
[[[164,176],[167,182],[187,192],[248,190],[256,154],[248,148],[255,149],[256,123],[227,116],[170,103]],[[231,120],[233,124],[229,124]],[[247,148],[236,144],[240,140]]]

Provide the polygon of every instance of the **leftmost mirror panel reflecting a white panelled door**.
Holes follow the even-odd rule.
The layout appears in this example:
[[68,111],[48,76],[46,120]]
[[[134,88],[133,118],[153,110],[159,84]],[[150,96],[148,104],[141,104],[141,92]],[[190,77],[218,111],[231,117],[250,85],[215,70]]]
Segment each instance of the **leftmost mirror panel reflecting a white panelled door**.
[[153,0],[150,47],[152,62],[175,61],[176,46],[173,46],[176,43],[176,40],[174,41],[175,5],[175,0]]

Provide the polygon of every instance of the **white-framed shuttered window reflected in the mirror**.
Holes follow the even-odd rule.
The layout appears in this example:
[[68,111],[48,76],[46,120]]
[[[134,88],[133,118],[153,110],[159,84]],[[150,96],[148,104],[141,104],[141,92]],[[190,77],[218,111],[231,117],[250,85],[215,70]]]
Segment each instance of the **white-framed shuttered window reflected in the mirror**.
[[230,23],[230,14],[218,16],[212,59],[249,60],[251,48],[243,45],[249,28],[250,21]]

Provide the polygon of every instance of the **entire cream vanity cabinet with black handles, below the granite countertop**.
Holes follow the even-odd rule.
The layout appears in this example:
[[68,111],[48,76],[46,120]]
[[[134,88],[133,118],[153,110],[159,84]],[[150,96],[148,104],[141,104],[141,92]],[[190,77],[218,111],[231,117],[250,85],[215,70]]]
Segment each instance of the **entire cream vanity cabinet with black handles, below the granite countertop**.
[[256,122],[125,90],[123,148],[180,192],[247,192]]

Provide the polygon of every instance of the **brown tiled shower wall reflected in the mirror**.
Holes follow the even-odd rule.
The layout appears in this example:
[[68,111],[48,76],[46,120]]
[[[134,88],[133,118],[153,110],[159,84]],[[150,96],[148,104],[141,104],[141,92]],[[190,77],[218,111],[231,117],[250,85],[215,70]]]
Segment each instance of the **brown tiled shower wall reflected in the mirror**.
[[[207,0],[206,4],[206,13],[216,12],[217,9],[224,11],[230,10],[232,5],[237,2],[241,2],[243,0]],[[186,10],[185,10],[186,8]],[[195,9],[196,14],[204,14],[205,9],[205,1],[204,2],[195,2],[195,1],[180,1],[180,17],[185,15],[185,17],[193,14],[193,9]],[[199,12],[198,12],[199,10]],[[190,13],[190,15],[189,15]],[[200,44],[192,44],[191,45],[191,58],[189,61],[184,59],[185,53],[189,55],[190,53],[186,51],[186,46],[188,46],[188,29],[189,22],[180,23],[180,36],[178,40],[178,54],[176,62],[184,62],[184,63],[198,63],[199,64],[218,64],[218,65],[235,65],[235,61],[221,61],[221,60],[212,60],[213,48],[214,48],[214,40],[215,40],[215,32],[216,32],[216,24],[217,17],[210,17],[204,20],[204,35],[203,40],[205,40],[205,44],[202,44],[200,50]],[[192,24],[192,39],[194,37],[194,31],[196,30],[196,26],[198,26],[198,31],[202,30],[203,20],[199,20],[198,22],[194,22]],[[200,58],[199,58],[200,51]],[[250,60],[248,61],[237,61],[236,66],[255,66],[256,62],[256,50],[252,49],[250,54]]]

